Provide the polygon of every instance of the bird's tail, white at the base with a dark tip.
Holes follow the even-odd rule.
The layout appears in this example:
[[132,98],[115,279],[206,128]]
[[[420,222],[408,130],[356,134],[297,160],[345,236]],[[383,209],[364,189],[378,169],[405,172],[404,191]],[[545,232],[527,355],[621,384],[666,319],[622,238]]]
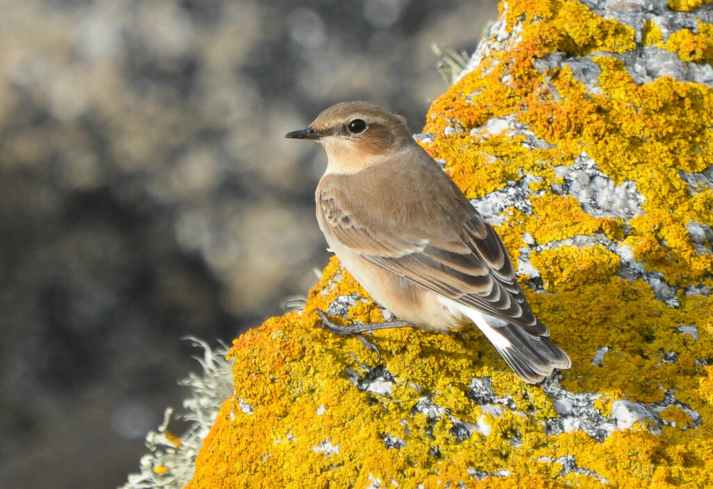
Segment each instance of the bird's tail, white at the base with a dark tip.
[[522,327],[475,309],[463,311],[483,331],[520,379],[536,384],[554,369],[569,369],[570,357],[547,336],[533,336]]

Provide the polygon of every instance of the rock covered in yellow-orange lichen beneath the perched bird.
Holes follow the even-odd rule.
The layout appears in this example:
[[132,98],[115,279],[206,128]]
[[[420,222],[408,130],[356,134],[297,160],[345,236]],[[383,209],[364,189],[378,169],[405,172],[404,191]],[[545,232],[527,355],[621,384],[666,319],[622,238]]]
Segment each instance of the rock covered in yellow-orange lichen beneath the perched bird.
[[713,9],[502,6],[419,141],[572,369],[524,384],[475,327],[379,331],[380,356],[316,329],[384,316],[333,259],[235,341],[188,487],[713,485]]

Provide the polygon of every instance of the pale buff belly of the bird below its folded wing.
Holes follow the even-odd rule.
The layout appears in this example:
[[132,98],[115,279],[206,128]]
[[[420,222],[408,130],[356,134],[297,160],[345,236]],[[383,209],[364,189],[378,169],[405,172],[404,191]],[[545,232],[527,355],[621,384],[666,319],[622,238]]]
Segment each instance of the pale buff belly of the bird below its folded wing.
[[446,307],[436,292],[372,264],[338,243],[330,243],[330,247],[344,268],[369,292],[374,301],[417,328],[448,331],[470,322],[461,313]]

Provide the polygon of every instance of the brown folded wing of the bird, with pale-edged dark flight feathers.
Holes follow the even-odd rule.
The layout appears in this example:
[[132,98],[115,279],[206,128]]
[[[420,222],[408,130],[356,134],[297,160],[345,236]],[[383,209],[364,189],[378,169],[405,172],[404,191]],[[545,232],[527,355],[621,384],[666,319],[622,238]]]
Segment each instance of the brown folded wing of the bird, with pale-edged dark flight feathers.
[[522,326],[530,334],[549,334],[530,312],[503,242],[465,197],[468,210],[455,213],[462,215],[458,222],[429,227],[424,216],[398,210],[393,210],[396,214],[387,224],[383,217],[376,218],[374,210],[380,210],[373,205],[356,206],[351,195],[325,190],[319,204],[329,232],[352,252],[425,289]]

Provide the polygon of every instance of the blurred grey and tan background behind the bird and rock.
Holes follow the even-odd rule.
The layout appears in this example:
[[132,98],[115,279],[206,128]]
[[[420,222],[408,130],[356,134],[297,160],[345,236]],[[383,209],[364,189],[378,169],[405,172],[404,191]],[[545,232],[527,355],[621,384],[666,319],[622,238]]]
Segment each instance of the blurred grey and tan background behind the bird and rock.
[[338,101],[446,89],[493,0],[0,0],[0,487],[111,488],[201,354],[327,262]]

